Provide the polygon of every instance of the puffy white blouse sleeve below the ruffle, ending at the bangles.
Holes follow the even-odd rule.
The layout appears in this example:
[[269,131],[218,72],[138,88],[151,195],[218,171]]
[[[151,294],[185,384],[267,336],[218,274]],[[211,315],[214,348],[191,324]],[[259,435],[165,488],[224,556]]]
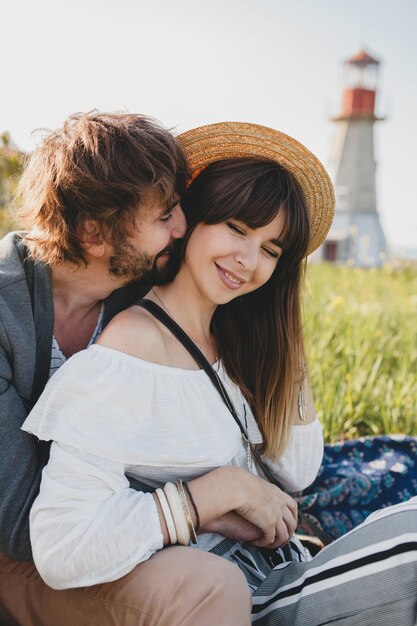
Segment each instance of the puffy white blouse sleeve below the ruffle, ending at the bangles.
[[124,469],[52,444],[30,535],[35,564],[53,589],[116,580],[163,547],[152,495],[129,488]]

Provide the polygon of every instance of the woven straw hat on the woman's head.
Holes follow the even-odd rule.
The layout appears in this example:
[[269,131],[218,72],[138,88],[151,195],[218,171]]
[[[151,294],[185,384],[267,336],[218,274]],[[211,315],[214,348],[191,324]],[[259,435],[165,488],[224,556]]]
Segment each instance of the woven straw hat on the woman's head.
[[334,191],[320,161],[299,141],[266,126],[220,122],[179,135],[192,174],[222,159],[259,157],[276,161],[294,175],[310,216],[311,238],[307,254],[323,243],[334,216]]

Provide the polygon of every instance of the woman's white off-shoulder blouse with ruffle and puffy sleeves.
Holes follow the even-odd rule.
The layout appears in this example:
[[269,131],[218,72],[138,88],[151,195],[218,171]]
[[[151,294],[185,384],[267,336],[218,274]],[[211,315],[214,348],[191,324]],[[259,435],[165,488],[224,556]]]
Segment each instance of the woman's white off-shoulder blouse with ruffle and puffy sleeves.
[[[262,436],[240,389],[215,366],[249,439]],[[53,376],[23,430],[53,440],[31,512],[36,566],[51,587],[116,580],[163,547],[150,493],[224,465],[247,467],[238,426],[202,370],[143,361],[100,345],[71,357]],[[265,459],[289,491],[307,487],[323,455],[316,419],[294,426],[276,461]],[[255,470],[256,471],[256,470]],[[209,550],[219,535],[201,534]]]

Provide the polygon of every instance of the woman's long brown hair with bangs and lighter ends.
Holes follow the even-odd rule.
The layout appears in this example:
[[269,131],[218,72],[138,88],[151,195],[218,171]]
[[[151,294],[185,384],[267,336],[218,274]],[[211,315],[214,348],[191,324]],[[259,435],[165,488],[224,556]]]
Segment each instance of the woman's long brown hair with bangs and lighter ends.
[[218,306],[212,320],[219,355],[241,388],[263,435],[263,451],[276,458],[291,432],[290,407],[303,376],[300,289],[310,236],[308,213],[293,176],[273,161],[229,159],[212,163],[181,200],[189,223],[237,219],[249,228],[285,211],[284,249],[261,288]]

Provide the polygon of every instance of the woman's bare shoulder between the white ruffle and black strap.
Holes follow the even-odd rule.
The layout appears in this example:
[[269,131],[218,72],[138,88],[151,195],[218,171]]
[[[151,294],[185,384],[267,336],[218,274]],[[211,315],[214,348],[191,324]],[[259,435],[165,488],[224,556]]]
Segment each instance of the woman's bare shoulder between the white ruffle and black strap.
[[166,362],[164,333],[157,320],[139,306],[118,313],[107,324],[97,343],[145,361]]

